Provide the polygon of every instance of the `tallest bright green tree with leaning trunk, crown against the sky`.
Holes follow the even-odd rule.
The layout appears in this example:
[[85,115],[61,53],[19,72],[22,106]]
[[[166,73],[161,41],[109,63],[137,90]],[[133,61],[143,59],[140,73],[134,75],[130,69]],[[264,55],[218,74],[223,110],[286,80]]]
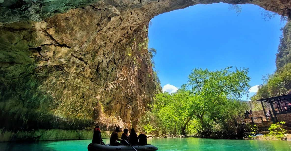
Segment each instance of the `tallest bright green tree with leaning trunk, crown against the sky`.
[[186,134],[185,128],[193,117],[198,118],[203,125],[205,113],[226,104],[228,98],[240,98],[248,93],[248,69],[231,69],[232,67],[216,71],[200,68],[192,70],[187,85],[181,89],[184,94],[188,93],[183,96],[186,96],[184,99],[189,103],[189,110],[185,113],[187,120],[182,126],[183,134]]

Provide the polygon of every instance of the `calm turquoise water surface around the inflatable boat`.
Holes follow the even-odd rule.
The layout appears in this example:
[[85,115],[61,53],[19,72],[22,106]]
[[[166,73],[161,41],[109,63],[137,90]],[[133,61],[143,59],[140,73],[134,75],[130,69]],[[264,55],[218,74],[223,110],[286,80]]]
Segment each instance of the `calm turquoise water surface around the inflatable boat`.
[[[104,139],[109,143],[109,139]],[[0,143],[0,150],[86,151],[91,140],[40,141],[35,143]],[[291,141],[223,140],[200,138],[148,139],[159,151],[291,151]]]

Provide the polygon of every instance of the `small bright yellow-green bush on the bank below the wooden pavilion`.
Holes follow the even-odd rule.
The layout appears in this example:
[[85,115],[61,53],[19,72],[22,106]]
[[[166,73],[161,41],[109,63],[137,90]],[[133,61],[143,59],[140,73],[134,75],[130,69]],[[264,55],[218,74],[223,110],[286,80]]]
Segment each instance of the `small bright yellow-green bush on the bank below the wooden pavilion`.
[[270,133],[267,136],[275,136],[277,139],[282,140],[285,138],[286,130],[283,128],[284,121],[278,122],[276,124],[272,124],[269,127]]

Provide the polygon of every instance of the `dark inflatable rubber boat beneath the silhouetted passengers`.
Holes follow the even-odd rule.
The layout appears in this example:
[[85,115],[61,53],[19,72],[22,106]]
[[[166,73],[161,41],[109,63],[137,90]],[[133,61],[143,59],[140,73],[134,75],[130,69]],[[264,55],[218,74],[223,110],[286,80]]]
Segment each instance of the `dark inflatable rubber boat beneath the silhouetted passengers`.
[[[158,150],[154,145],[132,145],[136,150],[144,150],[144,151],[155,151]],[[101,145],[101,144],[93,144],[90,143],[88,145],[88,151],[135,151],[130,145],[118,145],[118,146],[110,146],[110,145]]]

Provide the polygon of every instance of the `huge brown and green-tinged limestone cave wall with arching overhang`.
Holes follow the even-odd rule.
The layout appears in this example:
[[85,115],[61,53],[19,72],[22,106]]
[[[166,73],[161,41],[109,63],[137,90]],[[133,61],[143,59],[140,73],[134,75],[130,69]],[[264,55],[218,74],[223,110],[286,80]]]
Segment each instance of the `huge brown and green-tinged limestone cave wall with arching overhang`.
[[0,0],[0,129],[135,127],[156,87],[148,23],[198,3],[289,0]]

